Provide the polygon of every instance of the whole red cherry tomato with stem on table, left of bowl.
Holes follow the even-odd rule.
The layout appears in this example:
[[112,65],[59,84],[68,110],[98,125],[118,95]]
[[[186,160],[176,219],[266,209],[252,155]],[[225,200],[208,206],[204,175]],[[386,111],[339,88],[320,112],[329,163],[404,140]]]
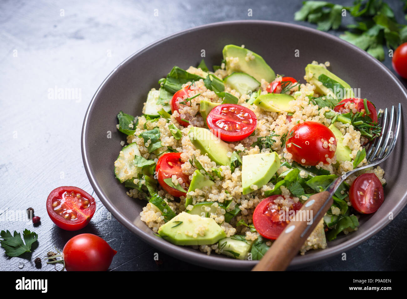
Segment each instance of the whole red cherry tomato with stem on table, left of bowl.
[[116,250],[92,234],[74,236],[63,247],[66,271],[107,271]]

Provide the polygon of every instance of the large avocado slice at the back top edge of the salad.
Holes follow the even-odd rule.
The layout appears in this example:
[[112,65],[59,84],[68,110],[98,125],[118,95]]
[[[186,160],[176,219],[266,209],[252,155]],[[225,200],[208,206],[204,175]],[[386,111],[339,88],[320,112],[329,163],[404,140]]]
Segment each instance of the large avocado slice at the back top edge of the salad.
[[[269,65],[264,61],[260,55],[239,46],[226,45],[222,51],[223,59],[226,57],[238,58],[237,63],[231,65],[230,61],[226,62],[226,70],[228,74],[233,72],[243,72],[253,76],[254,79],[261,82],[261,79],[265,79],[267,82],[271,82],[276,79],[276,74]],[[247,59],[246,57],[254,57],[254,59]]]

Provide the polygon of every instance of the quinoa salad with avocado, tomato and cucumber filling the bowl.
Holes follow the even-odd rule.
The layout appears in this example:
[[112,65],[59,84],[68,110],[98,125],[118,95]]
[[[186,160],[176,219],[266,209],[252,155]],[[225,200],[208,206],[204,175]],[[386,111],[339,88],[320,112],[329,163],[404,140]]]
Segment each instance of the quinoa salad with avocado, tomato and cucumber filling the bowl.
[[[204,60],[174,66],[141,116],[118,113],[127,138],[114,175],[128,196],[146,201],[140,219],[158,238],[260,260],[289,223],[281,211],[299,210],[367,163],[383,111],[358,98],[329,62],[303,67],[303,78],[276,74],[244,45],[226,45],[213,71]],[[360,214],[383,203],[384,185],[379,166],[348,177],[300,253],[357,230]]]

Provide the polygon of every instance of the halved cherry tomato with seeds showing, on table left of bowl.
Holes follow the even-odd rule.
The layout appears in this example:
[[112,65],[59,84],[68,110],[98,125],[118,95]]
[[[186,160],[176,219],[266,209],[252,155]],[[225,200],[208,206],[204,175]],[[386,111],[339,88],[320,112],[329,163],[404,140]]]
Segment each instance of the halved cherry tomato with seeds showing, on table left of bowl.
[[78,187],[62,186],[48,195],[48,215],[55,225],[67,231],[76,231],[88,225],[95,210],[95,199]]

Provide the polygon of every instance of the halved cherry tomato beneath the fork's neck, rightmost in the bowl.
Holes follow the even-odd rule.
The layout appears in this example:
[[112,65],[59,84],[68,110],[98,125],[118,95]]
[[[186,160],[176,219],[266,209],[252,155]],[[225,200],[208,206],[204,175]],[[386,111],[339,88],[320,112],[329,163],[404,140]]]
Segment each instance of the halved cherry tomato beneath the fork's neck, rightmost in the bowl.
[[349,200],[352,207],[359,213],[376,212],[384,201],[381,181],[374,173],[359,175],[350,186]]

